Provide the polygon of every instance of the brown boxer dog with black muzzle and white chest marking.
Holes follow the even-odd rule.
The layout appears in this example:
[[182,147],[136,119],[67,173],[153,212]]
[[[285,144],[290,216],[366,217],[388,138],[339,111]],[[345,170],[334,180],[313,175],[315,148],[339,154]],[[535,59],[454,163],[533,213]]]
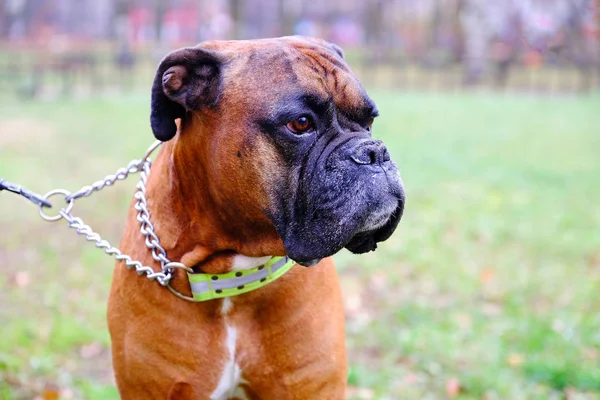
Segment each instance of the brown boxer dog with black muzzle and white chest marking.
[[[151,96],[165,143],[146,197],[169,259],[204,274],[273,256],[297,264],[260,289],[194,303],[117,263],[108,323],[121,397],[344,398],[344,310],[329,257],[386,240],[404,190],[342,51],[302,37],[205,42],[167,55]],[[160,270],[133,207],[121,250]],[[190,293],[184,270],[172,286]]]

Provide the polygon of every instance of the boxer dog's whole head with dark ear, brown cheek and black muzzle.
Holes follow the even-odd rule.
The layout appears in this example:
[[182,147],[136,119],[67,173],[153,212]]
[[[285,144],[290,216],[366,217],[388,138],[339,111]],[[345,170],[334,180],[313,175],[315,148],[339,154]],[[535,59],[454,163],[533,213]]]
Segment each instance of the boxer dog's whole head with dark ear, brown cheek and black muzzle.
[[374,250],[402,216],[400,174],[371,135],[377,115],[337,46],[284,37],[172,52],[150,119],[168,141],[181,118],[189,173],[211,182],[213,201],[248,223],[264,218],[292,259],[312,265],[344,247]]

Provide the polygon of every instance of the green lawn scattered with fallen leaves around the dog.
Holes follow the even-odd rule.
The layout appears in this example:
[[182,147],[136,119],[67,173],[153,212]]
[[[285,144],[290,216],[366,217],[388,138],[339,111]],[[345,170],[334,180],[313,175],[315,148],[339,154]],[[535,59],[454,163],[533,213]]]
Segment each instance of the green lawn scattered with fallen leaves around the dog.
[[[348,398],[600,399],[600,97],[372,97],[408,201],[377,252],[336,256]],[[0,177],[90,184],[152,142],[148,103],[4,100]],[[118,242],[135,181],[75,214]],[[0,399],[118,398],[112,261],[10,194],[0,221]]]

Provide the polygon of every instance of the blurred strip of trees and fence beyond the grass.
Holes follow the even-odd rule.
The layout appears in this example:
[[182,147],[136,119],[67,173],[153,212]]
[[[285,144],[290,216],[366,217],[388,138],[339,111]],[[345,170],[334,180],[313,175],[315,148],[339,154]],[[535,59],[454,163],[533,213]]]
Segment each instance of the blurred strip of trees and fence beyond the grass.
[[4,0],[2,83],[25,97],[127,87],[169,49],[300,34],[369,84],[579,92],[600,85],[594,0]]

